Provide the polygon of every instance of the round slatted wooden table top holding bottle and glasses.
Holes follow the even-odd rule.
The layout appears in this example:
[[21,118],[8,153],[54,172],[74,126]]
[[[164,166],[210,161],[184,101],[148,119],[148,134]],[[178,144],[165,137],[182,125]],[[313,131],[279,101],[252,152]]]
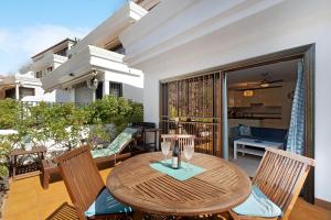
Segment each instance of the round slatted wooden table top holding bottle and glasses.
[[141,211],[172,216],[220,213],[250,194],[248,176],[225,160],[195,153],[190,163],[206,170],[180,182],[150,167],[161,152],[126,160],[108,175],[106,186],[120,202]]

